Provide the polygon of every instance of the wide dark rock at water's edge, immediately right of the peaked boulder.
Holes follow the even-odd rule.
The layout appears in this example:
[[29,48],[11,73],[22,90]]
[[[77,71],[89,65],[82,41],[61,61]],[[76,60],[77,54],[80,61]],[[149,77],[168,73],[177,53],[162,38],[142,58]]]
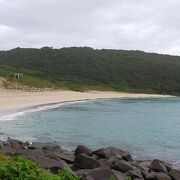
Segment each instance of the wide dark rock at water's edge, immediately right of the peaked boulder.
[[107,148],[98,149],[94,151],[93,154],[98,155],[100,158],[109,159],[110,157],[117,156],[119,158],[124,159],[125,161],[133,161],[129,152],[120,150],[115,147],[107,147]]

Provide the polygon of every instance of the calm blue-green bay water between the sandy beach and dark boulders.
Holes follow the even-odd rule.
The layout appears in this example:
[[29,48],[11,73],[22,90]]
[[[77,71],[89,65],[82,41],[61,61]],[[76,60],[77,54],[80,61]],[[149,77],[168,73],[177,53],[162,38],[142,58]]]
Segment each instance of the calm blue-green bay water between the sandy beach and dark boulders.
[[115,146],[180,165],[180,98],[79,101],[0,118],[0,138],[57,141],[73,150]]

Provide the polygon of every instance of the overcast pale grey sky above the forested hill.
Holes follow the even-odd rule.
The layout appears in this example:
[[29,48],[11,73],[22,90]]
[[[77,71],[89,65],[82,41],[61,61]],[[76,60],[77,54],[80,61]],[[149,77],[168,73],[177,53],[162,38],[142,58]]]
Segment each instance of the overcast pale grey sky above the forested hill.
[[0,0],[0,49],[90,46],[180,55],[180,0]]

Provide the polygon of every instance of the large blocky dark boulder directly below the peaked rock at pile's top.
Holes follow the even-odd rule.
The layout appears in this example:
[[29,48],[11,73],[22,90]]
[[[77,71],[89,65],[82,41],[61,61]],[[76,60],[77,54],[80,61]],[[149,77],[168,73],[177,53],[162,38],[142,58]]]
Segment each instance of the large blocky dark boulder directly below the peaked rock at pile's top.
[[74,160],[74,165],[76,169],[94,169],[99,167],[100,163],[90,156],[79,154]]

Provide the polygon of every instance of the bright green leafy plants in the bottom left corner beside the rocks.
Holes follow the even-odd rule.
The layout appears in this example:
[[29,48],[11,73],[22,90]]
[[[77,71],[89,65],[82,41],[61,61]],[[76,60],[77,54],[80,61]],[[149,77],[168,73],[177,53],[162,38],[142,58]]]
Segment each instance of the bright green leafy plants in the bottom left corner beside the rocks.
[[17,156],[10,158],[0,152],[0,179],[3,180],[80,180],[67,171],[53,175],[39,168],[36,163]]

